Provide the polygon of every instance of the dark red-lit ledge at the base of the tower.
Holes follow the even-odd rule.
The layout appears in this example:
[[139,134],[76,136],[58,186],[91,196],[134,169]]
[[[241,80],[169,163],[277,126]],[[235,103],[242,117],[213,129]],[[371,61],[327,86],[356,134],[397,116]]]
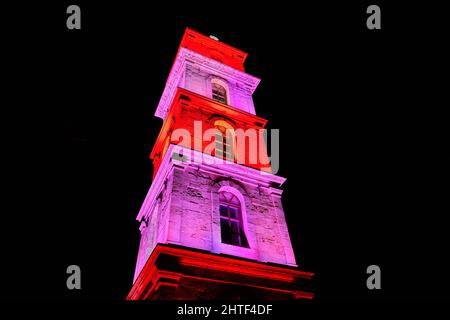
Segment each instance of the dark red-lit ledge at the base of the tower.
[[153,251],[127,300],[312,299],[312,273],[161,245]]

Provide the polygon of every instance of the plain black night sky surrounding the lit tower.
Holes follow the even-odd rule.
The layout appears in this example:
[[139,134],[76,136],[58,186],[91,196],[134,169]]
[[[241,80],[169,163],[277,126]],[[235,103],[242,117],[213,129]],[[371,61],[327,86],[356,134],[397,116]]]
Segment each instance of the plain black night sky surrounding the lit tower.
[[[372,2],[5,10],[5,296],[125,298],[153,114],[190,27],[248,52],[246,72],[262,79],[255,108],[280,129],[285,213],[316,303],[448,297],[442,8],[373,3],[381,30],[366,28]],[[81,30],[66,28],[70,4]],[[71,264],[82,290],[66,288]],[[382,290],[366,288],[371,264]]]

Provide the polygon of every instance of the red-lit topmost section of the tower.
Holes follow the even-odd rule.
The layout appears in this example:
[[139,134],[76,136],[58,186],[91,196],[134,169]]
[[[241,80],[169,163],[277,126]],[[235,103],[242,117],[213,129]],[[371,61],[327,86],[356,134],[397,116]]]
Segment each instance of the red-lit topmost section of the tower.
[[187,48],[205,57],[244,71],[244,61],[247,58],[247,53],[216,39],[186,28],[180,48]]

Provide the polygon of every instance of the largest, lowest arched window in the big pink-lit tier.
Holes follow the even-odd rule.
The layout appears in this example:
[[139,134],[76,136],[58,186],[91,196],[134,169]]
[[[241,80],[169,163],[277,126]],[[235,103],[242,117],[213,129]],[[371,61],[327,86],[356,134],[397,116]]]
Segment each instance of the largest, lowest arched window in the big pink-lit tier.
[[220,233],[222,242],[248,248],[245,236],[241,202],[231,192],[219,193]]

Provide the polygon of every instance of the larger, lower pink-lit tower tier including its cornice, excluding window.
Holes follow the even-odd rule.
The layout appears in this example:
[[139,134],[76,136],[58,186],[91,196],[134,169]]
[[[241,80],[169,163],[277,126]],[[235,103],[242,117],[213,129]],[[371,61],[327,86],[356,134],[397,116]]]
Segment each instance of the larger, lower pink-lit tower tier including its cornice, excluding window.
[[[166,152],[137,217],[149,227],[143,228],[135,277],[158,242],[296,265],[281,204],[284,178],[236,163],[223,164],[184,148],[184,155],[192,160],[181,162],[172,158],[174,148],[171,145]],[[241,199],[250,248],[221,241],[218,193],[222,190],[231,190]]]

